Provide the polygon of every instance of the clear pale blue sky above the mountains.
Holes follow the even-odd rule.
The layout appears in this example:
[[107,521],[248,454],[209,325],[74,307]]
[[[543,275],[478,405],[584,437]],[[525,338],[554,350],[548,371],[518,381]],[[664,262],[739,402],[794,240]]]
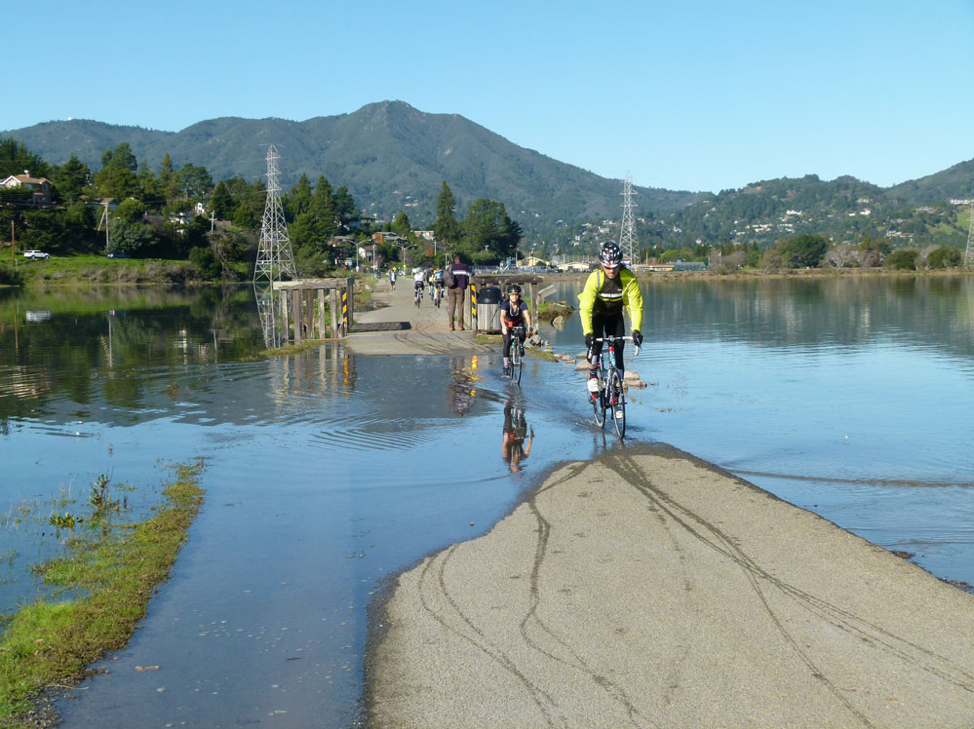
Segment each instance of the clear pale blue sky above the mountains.
[[893,185],[974,158],[974,0],[4,3],[0,129],[400,99],[636,184]]

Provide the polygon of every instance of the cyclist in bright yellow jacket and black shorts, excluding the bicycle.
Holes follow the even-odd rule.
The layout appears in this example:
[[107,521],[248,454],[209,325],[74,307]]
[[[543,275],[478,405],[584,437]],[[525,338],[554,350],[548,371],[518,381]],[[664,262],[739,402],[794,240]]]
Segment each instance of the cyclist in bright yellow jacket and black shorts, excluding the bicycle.
[[[637,347],[643,343],[640,331],[643,325],[643,295],[639,290],[636,275],[622,265],[622,251],[615,243],[606,243],[599,252],[602,267],[593,271],[585,282],[585,288],[578,295],[579,315],[582,317],[582,334],[588,347],[588,392],[594,401],[599,391],[598,362],[602,354],[602,342],[596,337],[626,334],[626,323],[622,317],[623,306],[629,310],[632,320],[632,341]],[[625,371],[622,350],[625,342],[615,347],[616,368]]]

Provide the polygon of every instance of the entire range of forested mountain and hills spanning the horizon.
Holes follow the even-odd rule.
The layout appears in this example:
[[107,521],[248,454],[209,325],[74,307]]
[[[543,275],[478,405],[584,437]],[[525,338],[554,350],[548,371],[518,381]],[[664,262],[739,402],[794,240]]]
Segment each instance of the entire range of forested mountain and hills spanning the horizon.
[[[124,141],[140,161],[154,169],[168,153],[177,168],[185,163],[203,165],[214,179],[239,175],[250,181],[266,174],[266,147],[273,143],[282,156],[284,187],[294,184],[301,174],[314,184],[321,174],[335,187],[346,186],[367,214],[391,219],[405,211],[414,225],[432,223],[444,180],[457,198],[458,216],[477,198],[499,200],[525,233],[536,239],[560,238],[559,233],[584,221],[618,220],[621,212],[621,180],[603,178],[516,145],[459,114],[431,114],[398,100],[304,121],[224,116],[172,132],[75,119],[42,122],[0,132],[0,136],[24,142],[55,164],[75,154],[93,171],[100,167],[105,149]],[[774,233],[783,234],[804,229],[812,221],[837,234],[850,228],[859,234],[867,228],[870,234],[880,234],[884,229],[893,230],[892,221],[903,217],[899,207],[974,197],[974,160],[885,188],[850,175],[831,181],[806,175],[763,180],[718,193],[639,186],[635,190],[639,193],[637,215],[661,225],[664,217],[672,217],[669,227],[682,227],[684,233],[692,231],[694,238],[702,240],[751,235],[746,223],[774,223]],[[782,203],[796,195],[807,203],[803,211],[806,225],[780,220],[788,209]],[[856,220],[854,226],[847,220],[838,225],[840,216],[861,217],[863,211],[857,207],[863,205],[855,201],[863,196],[871,198],[871,220]],[[742,201],[752,197],[764,201]],[[711,206],[717,209],[710,211]],[[747,220],[738,225],[737,218],[744,217]],[[954,216],[949,222],[956,239],[960,221]],[[770,235],[772,230],[766,233]],[[687,238],[663,233],[661,237]]]

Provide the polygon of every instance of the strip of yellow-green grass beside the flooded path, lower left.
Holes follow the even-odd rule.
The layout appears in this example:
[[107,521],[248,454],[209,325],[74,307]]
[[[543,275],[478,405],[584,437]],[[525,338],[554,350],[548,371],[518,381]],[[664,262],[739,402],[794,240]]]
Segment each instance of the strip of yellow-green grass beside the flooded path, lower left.
[[21,607],[0,635],[0,727],[34,726],[31,713],[41,692],[83,679],[91,663],[126,644],[202,504],[202,470],[201,460],[178,466],[145,521],[89,518],[96,528],[72,538],[67,556],[35,568],[67,597]]

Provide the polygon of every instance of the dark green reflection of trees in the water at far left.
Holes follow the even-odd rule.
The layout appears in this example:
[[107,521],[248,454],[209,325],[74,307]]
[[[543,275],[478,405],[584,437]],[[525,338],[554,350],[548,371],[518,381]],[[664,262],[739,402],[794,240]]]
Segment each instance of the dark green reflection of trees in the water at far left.
[[[136,407],[159,370],[258,351],[249,288],[29,291],[0,297],[0,418],[62,394]],[[26,311],[50,311],[27,323]],[[165,376],[165,375],[163,375]]]

